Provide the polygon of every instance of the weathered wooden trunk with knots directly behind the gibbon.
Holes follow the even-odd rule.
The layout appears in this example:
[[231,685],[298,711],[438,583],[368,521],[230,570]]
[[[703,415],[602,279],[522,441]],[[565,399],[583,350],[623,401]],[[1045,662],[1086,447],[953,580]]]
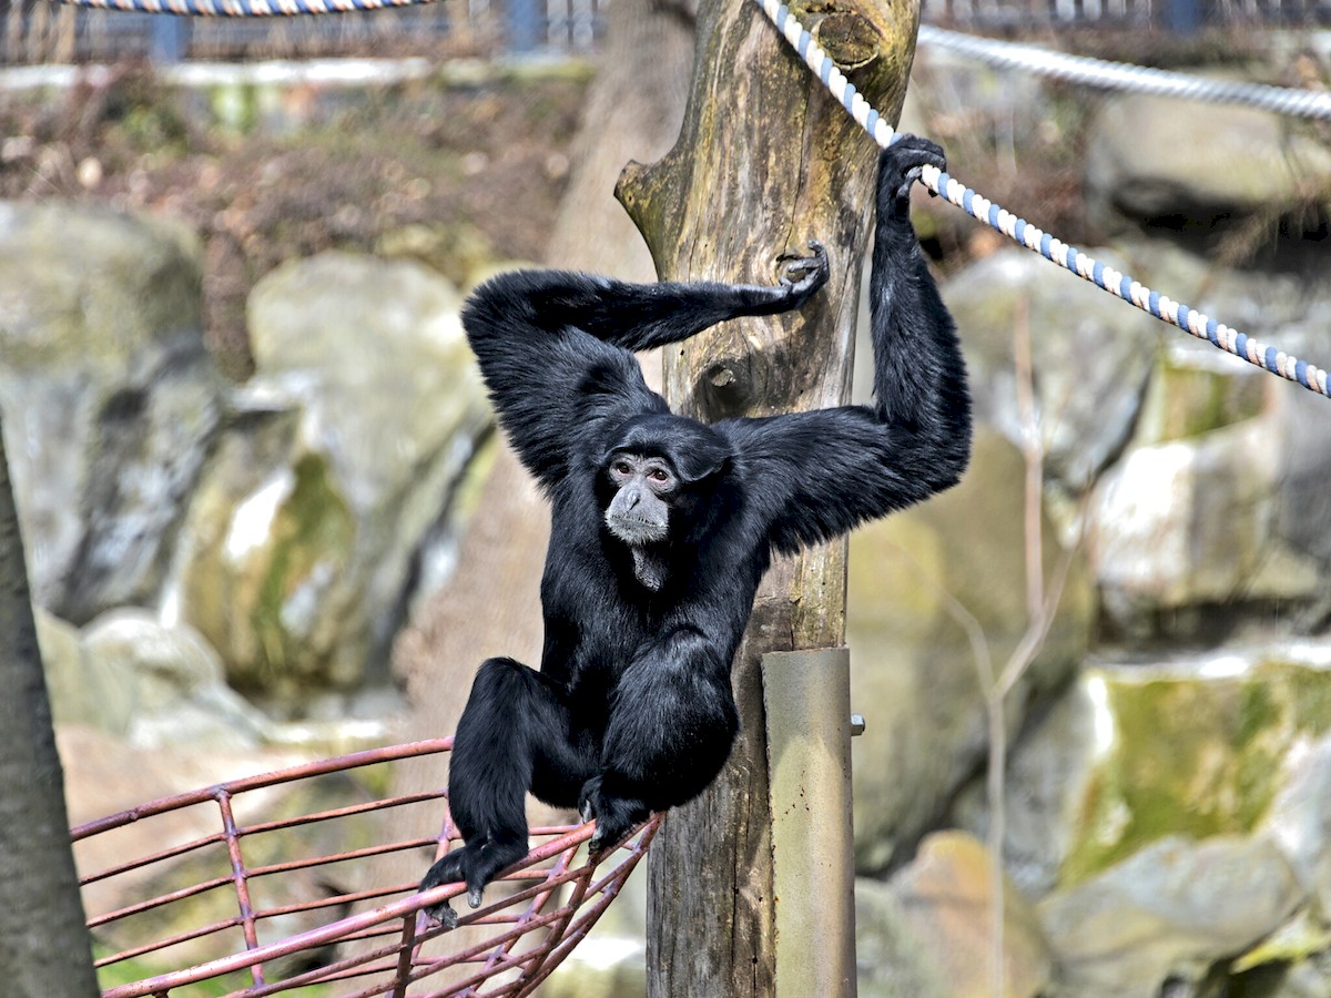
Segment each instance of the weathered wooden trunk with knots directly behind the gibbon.
[[[795,0],[791,8],[894,121],[918,0]],[[667,351],[675,411],[715,420],[848,401],[876,164],[873,142],[753,3],[703,0],[679,142],[654,166],[630,164],[620,201],[662,278],[769,283],[780,255],[805,251],[812,238],[827,245],[832,277],[799,314],[727,323]],[[716,782],[669,814],[650,853],[650,995],[776,993],[759,661],[768,651],[835,647],[844,637],[845,543],[777,562],[735,661],[740,741]]]

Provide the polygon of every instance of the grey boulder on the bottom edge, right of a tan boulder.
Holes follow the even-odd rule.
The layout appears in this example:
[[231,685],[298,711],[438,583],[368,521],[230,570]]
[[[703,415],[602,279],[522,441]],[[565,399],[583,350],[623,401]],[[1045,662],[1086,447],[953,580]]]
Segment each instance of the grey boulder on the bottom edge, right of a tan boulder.
[[1267,841],[1165,838],[1040,902],[1055,995],[1155,998],[1280,926],[1303,900]]

